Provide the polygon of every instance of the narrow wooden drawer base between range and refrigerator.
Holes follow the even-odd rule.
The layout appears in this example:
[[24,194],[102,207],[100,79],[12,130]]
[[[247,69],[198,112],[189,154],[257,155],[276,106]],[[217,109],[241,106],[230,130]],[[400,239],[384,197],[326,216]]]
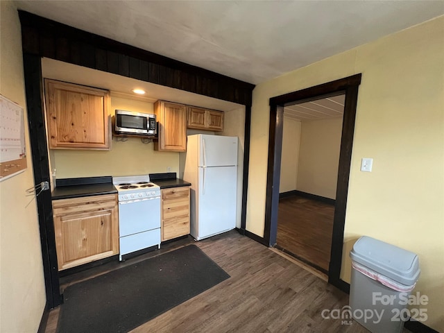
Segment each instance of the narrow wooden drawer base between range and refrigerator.
[[189,234],[189,186],[162,189],[162,241]]

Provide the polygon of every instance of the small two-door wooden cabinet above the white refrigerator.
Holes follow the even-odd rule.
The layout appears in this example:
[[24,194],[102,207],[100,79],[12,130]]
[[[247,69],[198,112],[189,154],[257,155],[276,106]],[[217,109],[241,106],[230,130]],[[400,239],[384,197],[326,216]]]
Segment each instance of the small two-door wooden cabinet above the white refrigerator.
[[188,128],[195,128],[199,130],[223,130],[223,112],[216,110],[207,110],[204,108],[197,108],[196,106],[188,106]]

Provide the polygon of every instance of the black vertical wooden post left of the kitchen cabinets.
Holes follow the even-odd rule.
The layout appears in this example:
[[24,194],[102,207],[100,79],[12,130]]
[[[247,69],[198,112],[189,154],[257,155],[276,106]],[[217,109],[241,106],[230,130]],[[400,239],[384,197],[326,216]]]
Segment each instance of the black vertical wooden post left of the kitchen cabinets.
[[[31,155],[33,157],[34,182],[50,181],[49,157],[43,112],[42,66],[39,56],[24,54],[24,80],[26,109],[28,110]],[[60,284],[56,252],[56,236],[53,223],[51,191],[42,191],[37,196],[37,212],[42,246],[43,273],[46,289],[46,305],[49,308],[61,304]]]

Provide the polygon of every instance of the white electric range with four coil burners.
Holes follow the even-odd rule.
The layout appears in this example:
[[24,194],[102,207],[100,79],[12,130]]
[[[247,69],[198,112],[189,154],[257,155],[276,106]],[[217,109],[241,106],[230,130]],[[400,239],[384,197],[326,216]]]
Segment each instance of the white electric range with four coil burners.
[[160,248],[160,187],[148,175],[113,177],[112,183],[119,192],[119,259]]

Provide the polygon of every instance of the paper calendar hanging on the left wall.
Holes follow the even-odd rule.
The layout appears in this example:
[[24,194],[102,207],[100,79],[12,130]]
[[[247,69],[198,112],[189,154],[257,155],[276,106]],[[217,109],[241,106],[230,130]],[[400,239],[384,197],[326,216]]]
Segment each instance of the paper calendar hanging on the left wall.
[[0,181],[25,169],[23,108],[0,94]]

